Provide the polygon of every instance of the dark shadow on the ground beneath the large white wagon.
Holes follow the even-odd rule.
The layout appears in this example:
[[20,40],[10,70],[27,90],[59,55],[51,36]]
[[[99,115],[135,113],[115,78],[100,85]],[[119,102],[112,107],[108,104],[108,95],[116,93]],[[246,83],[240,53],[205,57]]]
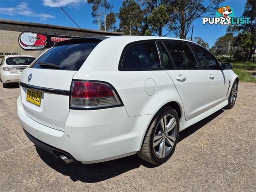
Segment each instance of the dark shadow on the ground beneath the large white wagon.
[[[204,120],[180,132],[178,142],[184,140],[185,138],[202,128],[205,124],[222,114],[222,112],[224,112],[224,110],[219,110],[211,116],[205,118]],[[66,164],[62,160],[54,158],[53,155],[45,152],[40,148],[36,148],[36,151],[38,152],[40,158],[54,170],[60,172],[63,175],[69,176],[70,179],[73,181],[79,180],[81,182],[87,183],[107,180],[109,178],[118,176],[124,172],[136,169],[141,165],[147,168],[156,167],[152,164],[149,164],[148,162],[141,160],[136,155],[97,164],[82,164],[80,162]]]

